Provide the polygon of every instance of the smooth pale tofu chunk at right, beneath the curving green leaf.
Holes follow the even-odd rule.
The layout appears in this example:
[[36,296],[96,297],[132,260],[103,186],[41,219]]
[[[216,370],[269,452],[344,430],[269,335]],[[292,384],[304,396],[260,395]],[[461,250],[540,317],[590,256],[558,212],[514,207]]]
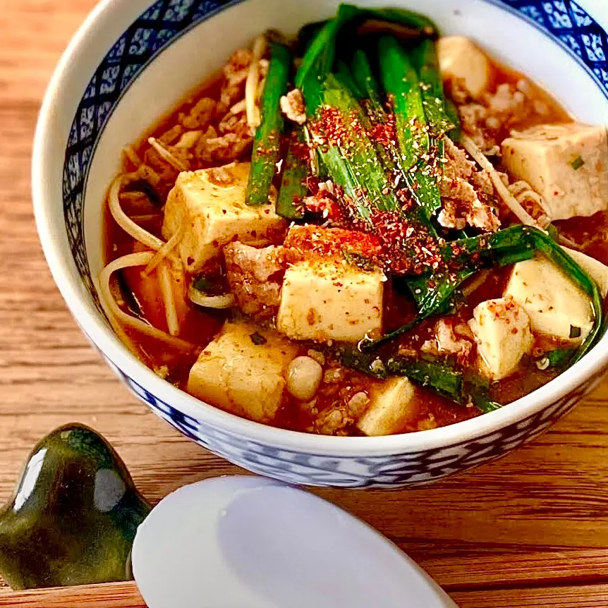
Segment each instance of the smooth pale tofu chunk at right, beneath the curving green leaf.
[[546,257],[514,265],[505,296],[511,296],[528,313],[535,333],[578,342],[591,331],[589,298]]

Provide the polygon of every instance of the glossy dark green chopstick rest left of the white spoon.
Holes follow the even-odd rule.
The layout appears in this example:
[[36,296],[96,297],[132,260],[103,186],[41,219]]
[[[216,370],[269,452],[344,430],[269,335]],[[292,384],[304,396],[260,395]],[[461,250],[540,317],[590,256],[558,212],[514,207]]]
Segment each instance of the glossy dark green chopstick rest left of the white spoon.
[[0,510],[0,575],[15,590],[132,578],[130,552],[150,505],[120,456],[84,425],[32,450]]

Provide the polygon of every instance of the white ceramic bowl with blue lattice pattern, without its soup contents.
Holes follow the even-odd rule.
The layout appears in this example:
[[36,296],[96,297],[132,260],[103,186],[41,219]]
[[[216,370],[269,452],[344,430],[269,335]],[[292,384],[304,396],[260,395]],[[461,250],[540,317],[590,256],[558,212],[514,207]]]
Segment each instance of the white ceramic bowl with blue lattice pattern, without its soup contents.
[[[131,355],[102,315],[104,194],[123,145],[233,49],[267,28],[296,32],[332,15],[337,0],[105,0],[61,59],[35,139],[37,226],[75,319],[127,386],[198,444],[272,478],[335,487],[417,485],[507,454],[568,412],[608,366],[608,336],[545,387],[456,425],[391,437],[321,437],[243,420],[164,382]],[[473,37],[537,80],[581,121],[608,122],[605,0],[373,0]]]

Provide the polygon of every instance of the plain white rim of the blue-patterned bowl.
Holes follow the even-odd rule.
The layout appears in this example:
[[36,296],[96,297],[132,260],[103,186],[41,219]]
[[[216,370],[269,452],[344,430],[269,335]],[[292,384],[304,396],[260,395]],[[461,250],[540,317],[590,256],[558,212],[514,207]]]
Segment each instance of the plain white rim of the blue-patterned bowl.
[[[521,4],[521,0],[484,1],[511,13],[515,12],[514,4]],[[269,427],[202,403],[159,378],[118,340],[104,317],[95,308],[90,293],[85,290],[83,281],[75,269],[67,243],[66,224],[61,205],[63,164],[58,160],[59,158],[62,161],[66,150],[69,126],[63,129],[61,134],[57,133],[57,124],[61,122],[61,117],[58,116],[60,109],[68,114],[67,123],[71,125],[79,99],[99,62],[133,20],[152,4],[149,0],[102,0],[94,8],[71,40],[51,78],[40,110],[32,152],[32,198],[35,219],[51,274],[80,328],[102,355],[124,375],[134,379],[152,395],[166,403],[171,403],[171,406],[191,418],[244,439],[295,449],[303,453],[373,456],[454,446],[476,437],[487,436],[492,432],[499,432],[502,428],[525,420],[559,401],[580,385],[597,377],[608,366],[608,335],[606,335],[591,353],[557,379],[504,408],[446,427],[386,437],[325,437]],[[530,0],[527,4],[535,3]],[[600,5],[600,0],[588,0],[585,4],[596,6],[595,13],[602,16],[603,22],[608,23],[608,5]],[[233,6],[233,3],[226,5],[226,8],[227,6]],[[128,17],[130,14],[133,18]],[[525,18],[521,13],[516,14],[529,24],[538,27],[532,19]],[[120,31],[116,35],[109,35],[109,32],[117,29],[118,23],[123,24],[118,28]],[[562,50],[566,48],[562,41],[549,32],[545,33],[554,38],[554,42]],[[604,32],[604,37],[605,35]],[[94,50],[96,45],[99,51]],[[588,66],[584,66],[583,62],[579,63],[589,72]],[[597,84],[600,85],[599,82]],[[63,122],[66,123],[66,120]],[[57,152],[60,153],[59,157]]]

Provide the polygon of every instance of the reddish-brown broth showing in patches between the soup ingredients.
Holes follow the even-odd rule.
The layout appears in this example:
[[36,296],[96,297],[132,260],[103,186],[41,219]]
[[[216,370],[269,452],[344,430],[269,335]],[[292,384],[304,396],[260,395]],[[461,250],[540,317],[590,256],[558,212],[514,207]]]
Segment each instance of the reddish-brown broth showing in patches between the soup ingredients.
[[[494,85],[501,83],[516,83],[522,76],[514,71],[499,66],[493,63],[492,66],[492,82]],[[566,114],[557,102],[550,97],[546,92],[540,90],[539,87],[533,85],[533,90],[537,99],[545,102],[550,109],[548,120],[549,122],[564,122],[570,121],[571,118]],[[159,137],[166,130],[176,124],[178,116],[181,112],[188,112],[190,107],[197,102],[201,97],[212,97],[217,99],[219,96],[219,78],[214,77],[207,81],[201,87],[197,87],[196,90],[186,96],[181,102],[179,102],[175,109],[169,112],[166,116],[161,118],[158,123],[142,136],[141,140],[135,145],[134,149],[138,155],[143,158],[145,156],[145,150],[147,149],[147,138],[150,136]],[[217,123],[217,121],[216,121]],[[528,124],[518,124],[516,128],[526,128],[532,126]],[[508,133],[504,133],[504,136]],[[200,166],[194,167],[194,169],[205,169],[208,165],[201,164]],[[125,171],[132,171],[134,167],[128,160],[124,161],[123,169]],[[166,169],[166,183],[164,184],[164,190],[168,193],[169,189],[174,185],[177,171],[171,168]],[[145,228],[152,231],[152,233],[160,236],[160,226],[162,224],[162,210],[157,209],[158,218],[152,219]],[[604,218],[604,225],[607,224],[606,218]],[[137,245],[130,236],[123,232],[111,218],[109,212],[107,212],[105,225],[107,226],[107,261],[116,259],[122,255],[132,253],[137,250]],[[590,232],[588,231],[587,219],[576,219],[570,221],[569,224],[564,224],[564,232],[569,233],[571,238],[578,238],[583,241],[589,238]],[[595,247],[597,246],[597,249]],[[598,253],[601,252],[601,255]],[[594,245],[593,251],[594,257],[608,262],[608,243],[602,241]],[[469,298],[468,305],[461,308],[458,313],[459,322],[465,322],[467,318],[470,318],[471,311],[474,306],[488,298],[500,297],[502,288],[506,279],[508,279],[509,270],[499,269],[490,272],[482,286],[480,286]],[[145,317],[154,327],[164,329],[166,331],[166,321],[164,318],[164,310],[162,306],[162,300],[159,296],[158,288],[154,288],[155,277],[154,274],[149,279],[142,277],[141,269],[128,269],[123,272],[123,281],[128,286],[128,289],[132,292],[135,300],[140,303],[142,308],[142,316]],[[399,294],[396,291],[387,289],[387,296],[385,298],[385,313],[386,313],[386,326],[387,329],[395,329],[400,327],[402,324],[411,319],[415,315],[415,306],[411,298]],[[138,312],[138,311],[132,311]],[[207,344],[213,339],[214,335],[219,332],[222,324],[226,319],[231,317],[233,313],[228,311],[217,311],[217,312],[204,312],[201,308],[190,305],[186,320],[183,323],[183,331],[181,335],[184,339],[192,342],[197,348],[193,353],[179,353],[178,351],[167,351],[166,344],[160,341],[154,341],[151,339],[141,338],[141,336],[133,335],[133,332],[126,330],[128,335],[137,341],[140,346],[142,359],[145,360],[147,365],[158,369],[159,367],[168,367],[167,379],[169,382],[176,384],[176,386],[182,389],[186,388],[188,372],[190,367],[193,365],[197,353],[205,348]],[[426,339],[430,332],[431,324],[423,324],[420,329],[416,331],[415,339],[413,336],[406,336],[403,339],[403,343],[408,346],[414,345],[416,348],[420,348],[420,345]],[[303,348],[303,353],[305,349]],[[553,372],[541,372],[537,370],[536,366],[530,362],[524,362],[521,371],[513,377],[506,379],[502,382],[494,384],[492,389],[494,397],[497,399],[504,400],[504,403],[509,403],[514,399],[528,394],[528,392],[542,386],[554,377]],[[339,398],[339,394],[352,394],[356,387],[369,388],[370,385],[378,382],[375,379],[360,374],[359,372],[348,372],[348,378],[338,384],[336,387],[324,384],[322,391],[318,394],[319,408],[322,409],[324,406],[329,406],[336,399]],[[354,388],[353,388],[354,387]],[[461,420],[473,418],[480,412],[473,406],[461,406],[448,399],[444,399],[432,391],[427,389],[417,388],[418,394],[418,408],[419,416],[418,421],[412,425],[407,425],[403,428],[403,432],[411,432],[419,430],[419,423],[422,424],[422,428],[425,428],[424,424],[428,420],[432,420],[434,425],[444,426],[453,424]],[[425,422],[422,422],[425,421]],[[431,423],[432,424],[432,423]],[[292,430],[310,430],[312,425],[312,417],[306,415],[302,408],[296,406],[295,401],[286,394],[284,399],[284,405],[279,412],[279,416],[275,421],[275,425],[284,427]],[[353,428],[348,428],[348,434],[358,434],[358,431]]]

